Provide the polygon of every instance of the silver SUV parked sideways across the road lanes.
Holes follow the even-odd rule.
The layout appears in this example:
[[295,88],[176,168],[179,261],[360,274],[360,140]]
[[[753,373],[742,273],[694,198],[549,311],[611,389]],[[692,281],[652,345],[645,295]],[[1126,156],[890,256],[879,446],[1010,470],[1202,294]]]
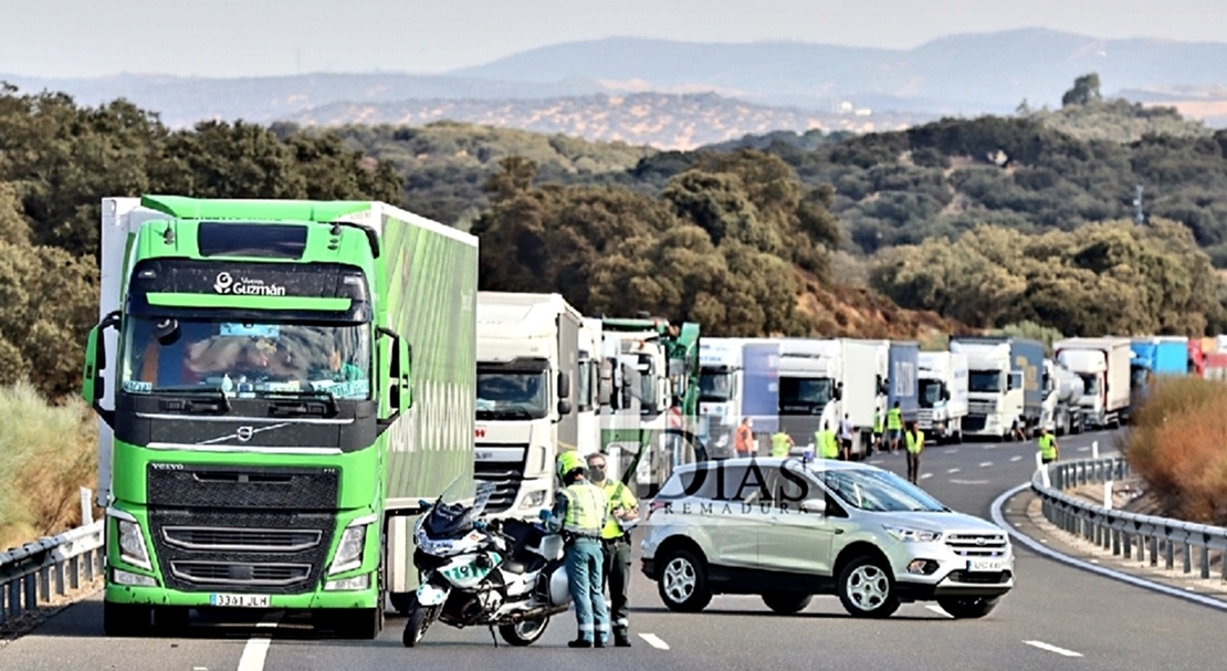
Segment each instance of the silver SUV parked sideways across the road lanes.
[[984,617],[1014,588],[1006,532],[867,466],[741,458],[675,470],[643,525],[643,573],[670,610],[713,594],[761,595],[775,612],[839,595],[859,617],[933,601]]

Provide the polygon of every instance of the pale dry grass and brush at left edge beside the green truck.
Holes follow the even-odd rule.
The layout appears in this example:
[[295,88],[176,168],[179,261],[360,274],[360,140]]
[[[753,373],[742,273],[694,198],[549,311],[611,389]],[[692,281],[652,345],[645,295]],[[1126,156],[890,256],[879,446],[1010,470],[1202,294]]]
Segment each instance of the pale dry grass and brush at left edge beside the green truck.
[[80,525],[80,488],[97,474],[93,413],[20,383],[0,388],[0,548]]

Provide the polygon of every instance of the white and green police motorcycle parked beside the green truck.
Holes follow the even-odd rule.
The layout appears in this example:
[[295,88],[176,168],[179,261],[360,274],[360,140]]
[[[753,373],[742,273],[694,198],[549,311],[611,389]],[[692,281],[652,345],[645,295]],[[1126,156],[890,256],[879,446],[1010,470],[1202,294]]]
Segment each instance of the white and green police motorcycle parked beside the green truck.
[[470,476],[453,481],[433,503],[421,502],[425,514],[413,532],[420,586],[401,637],[406,648],[436,621],[490,627],[491,635],[497,627],[507,643],[530,645],[550,616],[571,607],[562,536],[539,523],[479,519],[493,491],[493,483]]

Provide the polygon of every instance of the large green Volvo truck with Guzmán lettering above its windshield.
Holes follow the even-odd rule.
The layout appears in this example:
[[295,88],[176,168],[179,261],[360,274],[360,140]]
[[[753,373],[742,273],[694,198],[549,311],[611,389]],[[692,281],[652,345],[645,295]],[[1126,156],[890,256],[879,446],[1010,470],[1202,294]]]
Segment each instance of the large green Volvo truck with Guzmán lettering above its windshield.
[[256,608],[374,638],[420,500],[472,477],[476,238],[383,202],[102,205],[107,634]]

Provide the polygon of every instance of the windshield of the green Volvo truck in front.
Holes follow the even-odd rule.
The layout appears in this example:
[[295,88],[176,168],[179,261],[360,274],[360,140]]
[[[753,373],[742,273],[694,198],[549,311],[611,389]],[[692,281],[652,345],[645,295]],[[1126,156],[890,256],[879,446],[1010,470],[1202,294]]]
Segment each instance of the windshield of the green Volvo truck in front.
[[239,397],[371,397],[369,325],[129,315],[124,329],[121,384],[130,394],[213,388]]

